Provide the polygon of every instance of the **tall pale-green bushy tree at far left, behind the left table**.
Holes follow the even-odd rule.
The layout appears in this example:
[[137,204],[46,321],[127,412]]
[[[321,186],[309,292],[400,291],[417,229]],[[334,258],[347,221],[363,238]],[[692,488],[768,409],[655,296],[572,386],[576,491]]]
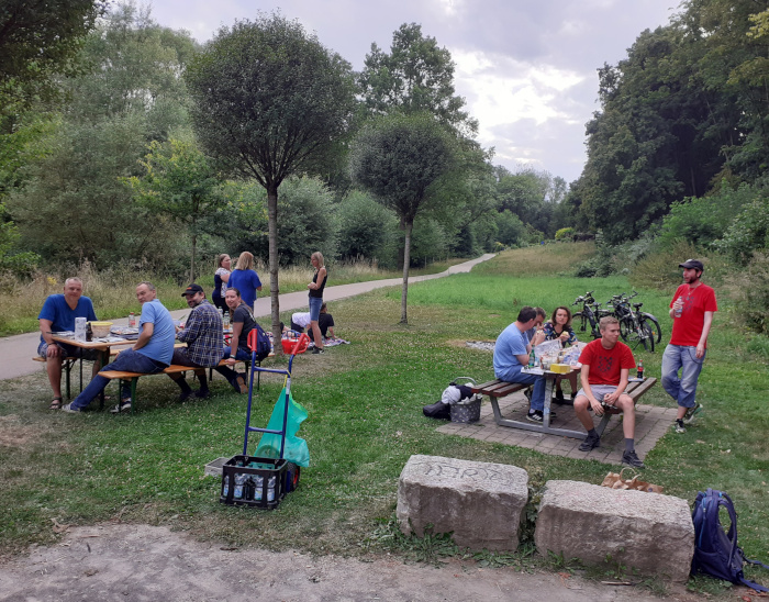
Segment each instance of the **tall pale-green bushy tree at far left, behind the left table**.
[[69,103],[25,165],[25,186],[7,201],[24,246],[48,260],[99,267],[160,255],[164,267],[174,263],[178,228],[148,219],[120,178],[140,175],[146,145],[185,125],[179,75],[193,48],[188,34],[132,5],[88,35],[79,60],[91,70],[63,80]]

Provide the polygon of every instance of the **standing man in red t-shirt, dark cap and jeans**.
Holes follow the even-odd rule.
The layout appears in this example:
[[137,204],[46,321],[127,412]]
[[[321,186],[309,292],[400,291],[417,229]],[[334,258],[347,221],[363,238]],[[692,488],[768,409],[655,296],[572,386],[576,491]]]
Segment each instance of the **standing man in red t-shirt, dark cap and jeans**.
[[687,259],[678,267],[683,268],[683,285],[678,287],[670,301],[673,331],[662,355],[662,388],[678,402],[676,433],[686,433],[683,425],[691,424],[702,410],[694,399],[696,381],[705,361],[707,335],[718,305],[713,289],[701,281],[702,261]]

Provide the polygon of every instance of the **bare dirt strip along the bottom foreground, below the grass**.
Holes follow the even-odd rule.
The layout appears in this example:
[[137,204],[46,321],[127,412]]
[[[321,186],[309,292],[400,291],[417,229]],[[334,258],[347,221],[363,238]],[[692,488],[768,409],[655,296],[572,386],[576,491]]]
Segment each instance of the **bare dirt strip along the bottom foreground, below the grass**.
[[[452,560],[441,568],[394,558],[364,562],[192,540],[148,525],[73,528],[54,546],[0,565],[0,600],[227,601],[651,601],[646,590],[568,572],[526,573]],[[676,600],[693,601],[680,589]]]

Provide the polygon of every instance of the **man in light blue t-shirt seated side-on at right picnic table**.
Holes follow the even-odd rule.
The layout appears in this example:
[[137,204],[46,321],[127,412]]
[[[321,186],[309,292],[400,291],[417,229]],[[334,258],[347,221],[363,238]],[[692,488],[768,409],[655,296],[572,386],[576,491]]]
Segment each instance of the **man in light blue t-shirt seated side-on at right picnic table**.
[[[545,377],[523,374],[521,370],[528,365],[532,347],[545,341],[545,334],[542,331],[537,331],[531,342],[526,336],[526,332],[537,327],[537,322],[542,325],[543,320],[544,316],[538,315],[534,308],[528,305],[522,308],[517,320],[502,331],[494,345],[494,376],[505,382],[534,384],[526,419],[538,424],[544,420]],[[550,417],[555,417],[554,412],[550,412]]]

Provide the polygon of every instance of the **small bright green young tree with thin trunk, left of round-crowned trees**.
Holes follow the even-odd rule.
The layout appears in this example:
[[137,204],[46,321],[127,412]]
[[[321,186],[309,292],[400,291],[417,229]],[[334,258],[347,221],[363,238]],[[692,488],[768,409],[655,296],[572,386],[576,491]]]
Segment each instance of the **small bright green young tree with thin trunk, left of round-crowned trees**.
[[186,224],[192,243],[190,282],[196,280],[196,250],[200,221],[224,202],[216,193],[220,180],[209,159],[192,141],[153,141],[141,160],[146,172],[126,179],[135,198],[153,214],[166,214]]

